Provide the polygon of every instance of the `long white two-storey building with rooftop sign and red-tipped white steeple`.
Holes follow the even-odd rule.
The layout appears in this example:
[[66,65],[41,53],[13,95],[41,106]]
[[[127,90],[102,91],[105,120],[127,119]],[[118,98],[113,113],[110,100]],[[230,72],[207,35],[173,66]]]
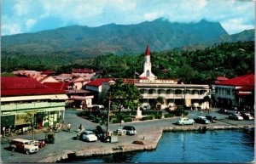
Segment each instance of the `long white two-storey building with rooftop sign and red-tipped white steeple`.
[[[155,99],[162,97],[164,104],[161,105],[161,109],[177,105],[209,108],[209,103],[203,100],[206,96],[211,97],[208,85],[178,84],[177,80],[158,79],[151,72],[151,67],[150,51],[147,45],[143,73],[139,76],[140,79],[132,79],[143,96],[141,107],[148,107]],[[131,82],[131,79],[124,79],[124,82]]]

